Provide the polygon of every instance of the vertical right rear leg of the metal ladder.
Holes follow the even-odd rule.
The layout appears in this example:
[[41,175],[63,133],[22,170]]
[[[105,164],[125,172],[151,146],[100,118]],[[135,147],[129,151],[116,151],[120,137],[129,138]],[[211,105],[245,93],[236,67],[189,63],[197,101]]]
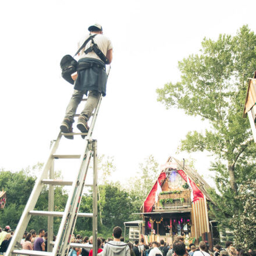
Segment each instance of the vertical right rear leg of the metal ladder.
[[98,168],[97,168],[97,140],[93,141],[93,256],[98,255]]

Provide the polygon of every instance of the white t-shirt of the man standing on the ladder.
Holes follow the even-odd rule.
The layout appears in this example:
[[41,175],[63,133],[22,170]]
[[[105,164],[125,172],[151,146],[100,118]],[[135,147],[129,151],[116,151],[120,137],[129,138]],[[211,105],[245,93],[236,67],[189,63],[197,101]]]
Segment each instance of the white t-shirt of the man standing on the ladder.
[[[91,34],[95,34],[95,33],[91,33]],[[87,40],[87,38],[90,37],[90,34],[85,35],[78,43],[78,47],[77,49],[79,49],[81,47],[81,45],[83,45],[84,41]],[[112,46],[112,42],[109,40],[108,37],[106,37],[105,35],[102,34],[97,34],[95,35],[95,37],[93,38],[95,44],[98,45],[99,49],[102,51],[102,53],[106,56],[106,52],[110,49],[113,48]],[[101,59],[99,58],[99,56],[97,54],[95,54],[94,51],[88,52],[88,54],[85,54],[84,51],[86,51],[86,49],[91,47],[92,42],[89,41],[87,42],[86,47],[84,47],[83,49],[81,49],[80,51],[80,55],[79,55],[79,59],[81,58],[94,58],[94,59],[99,59],[101,61]]]

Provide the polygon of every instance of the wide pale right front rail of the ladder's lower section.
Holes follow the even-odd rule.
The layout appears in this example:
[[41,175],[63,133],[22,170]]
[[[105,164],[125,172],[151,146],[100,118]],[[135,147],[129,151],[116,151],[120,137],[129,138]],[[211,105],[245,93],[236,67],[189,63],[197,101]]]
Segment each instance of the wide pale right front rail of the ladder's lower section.
[[[83,165],[83,162],[84,162],[85,159],[86,159],[87,162],[90,161],[90,154],[91,154],[91,152],[88,150],[88,140],[87,140],[86,141],[86,152],[85,152],[84,155],[83,154],[81,155],[80,166]],[[72,207],[72,204],[73,204],[73,202],[72,202],[73,197],[76,195],[77,185],[79,184],[79,179],[80,179],[80,176],[81,176],[80,172],[81,172],[81,170],[77,173],[77,177],[74,180],[74,183],[72,185],[72,190],[70,191],[69,197],[67,198],[65,211],[64,211],[64,214],[63,214],[61,225],[59,226],[58,234],[56,236],[54,249],[52,251],[52,253],[54,255],[56,255],[57,252],[59,253],[59,250],[61,249],[62,244],[63,244],[63,241],[62,241],[63,236],[66,233],[65,227],[68,226],[69,223],[70,223],[70,208]]]

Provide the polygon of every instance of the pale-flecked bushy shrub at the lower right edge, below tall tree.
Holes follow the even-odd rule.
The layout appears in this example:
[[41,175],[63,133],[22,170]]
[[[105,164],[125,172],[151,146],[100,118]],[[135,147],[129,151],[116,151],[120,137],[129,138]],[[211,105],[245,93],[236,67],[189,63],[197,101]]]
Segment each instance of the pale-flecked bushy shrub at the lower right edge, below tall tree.
[[237,200],[243,204],[239,214],[233,216],[234,240],[247,249],[256,248],[256,180],[241,185]]

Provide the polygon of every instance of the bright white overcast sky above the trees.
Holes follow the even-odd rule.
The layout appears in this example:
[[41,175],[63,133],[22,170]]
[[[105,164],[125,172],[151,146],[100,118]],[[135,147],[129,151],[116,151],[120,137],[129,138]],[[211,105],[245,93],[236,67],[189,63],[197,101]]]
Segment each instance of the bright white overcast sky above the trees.
[[[188,131],[204,131],[208,122],[166,109],[155,90],[179,81],[178,62],[197,54],[204,37],[235,35],[244,24],[256,31],[255,5],[248,0],[2,1],[0,168],[17,171],[47,159],[73,91],[59,62],[74,55],[87,28],[99,23],[112,41],[113,61],[93,138],[98,154],[115,159],[113,180],[136,179],[138,163],[154,155],[159,164],[169,156],[193,158],[211,183],[214,158],[208,152],[176,153]],[[83,145],[80,137],[63,138],[59,153],[80,154]],[[72,179],[77,163],[60,161],[55,169]]]

